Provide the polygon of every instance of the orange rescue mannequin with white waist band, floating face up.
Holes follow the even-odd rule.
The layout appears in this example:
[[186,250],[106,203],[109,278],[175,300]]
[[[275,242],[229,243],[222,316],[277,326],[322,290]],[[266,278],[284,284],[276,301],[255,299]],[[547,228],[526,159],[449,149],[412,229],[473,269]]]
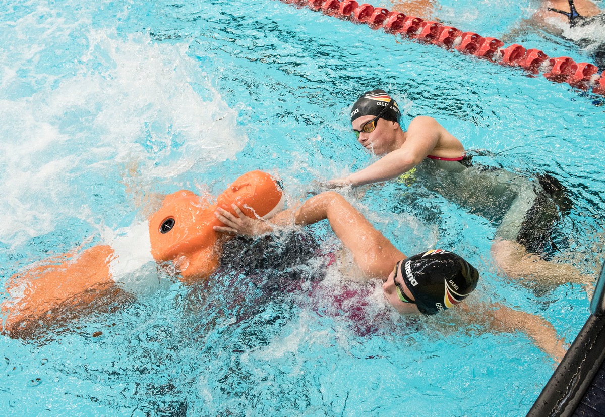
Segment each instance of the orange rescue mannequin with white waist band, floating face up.
[[214,231],[214,226],[223,226],[214,212],[221,207],[235,214],[232,204],[251,218],[269,218],[282,208],[283,192],[272,176],[252,171],[235,180],[216,204],[187,190],[167,195],[148,225],[131,226],[121,242],[116,238],[111,245],[59,255],[13,275],[7,286],[10,298],[0,306],[3,330],[52,320],[61,314],[59,306],[87,304],[108,292],[114,296],[126,281],[124,275],[147,261],[172,262],[187,284],[207,280],[218,268],[222,244],[231,238]]

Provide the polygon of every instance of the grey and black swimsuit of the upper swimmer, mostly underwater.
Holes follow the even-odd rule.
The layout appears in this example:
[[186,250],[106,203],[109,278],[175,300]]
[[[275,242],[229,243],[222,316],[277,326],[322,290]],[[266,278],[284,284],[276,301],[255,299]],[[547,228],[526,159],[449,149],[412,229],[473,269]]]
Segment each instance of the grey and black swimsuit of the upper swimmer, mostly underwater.
[[563,194],[563,186],[546,174],[525,177],[481,163],[474,165],[472,157],[466,153],[458,158],[429,155],[427,163],[412,172],[412,181],[407,177],[400,181],[422,183],[469,213],[488,219],[498,227],[497,238],[515,240],[545,257],[557,251],[552,232],[561,207],[554,194]]

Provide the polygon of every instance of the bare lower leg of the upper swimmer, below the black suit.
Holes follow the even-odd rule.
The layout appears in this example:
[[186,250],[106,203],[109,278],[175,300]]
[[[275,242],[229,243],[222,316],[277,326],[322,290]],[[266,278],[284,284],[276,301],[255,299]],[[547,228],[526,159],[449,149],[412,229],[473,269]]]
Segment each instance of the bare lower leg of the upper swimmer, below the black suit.
[[491,247],[495,263],[513,279],[531,279],[542,284],[592,284],[594,278],[582,275],[574,266],[545,261],[529,253],[525,246],[512,240],[495,240]]

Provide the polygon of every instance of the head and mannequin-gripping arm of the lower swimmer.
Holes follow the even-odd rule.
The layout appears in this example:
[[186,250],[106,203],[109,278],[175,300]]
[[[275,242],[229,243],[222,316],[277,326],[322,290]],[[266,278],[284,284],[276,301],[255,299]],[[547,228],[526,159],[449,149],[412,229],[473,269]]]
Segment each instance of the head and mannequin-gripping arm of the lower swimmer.
[[[271,223],[243,214],[238,218],[219,210],[216,215],[227,226],[215,226],[215,231],[248,236],[273,231]],[[385,297],[399,312],[436,314],[460,303],[477,286],[479,272],[462,257],[442,249],[407,257],[336,192],[315,195],[295,212],[278,214],[275,222],[311,225],[325,219],[353,252],[361,271],[367,277],[384,281]]]

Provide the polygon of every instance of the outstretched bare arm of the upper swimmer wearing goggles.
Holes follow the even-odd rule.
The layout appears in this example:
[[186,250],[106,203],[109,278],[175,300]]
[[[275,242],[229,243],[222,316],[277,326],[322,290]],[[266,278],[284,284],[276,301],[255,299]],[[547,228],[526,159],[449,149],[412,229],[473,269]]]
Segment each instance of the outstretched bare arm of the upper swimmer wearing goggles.
[[427,116],[416,117],[410,123],[407,140],[401,148],[345,179],[332,180],[330,183],[358,186],[396,178],[422,162],[437,146],[439,137],[440,125],[437,120]]

